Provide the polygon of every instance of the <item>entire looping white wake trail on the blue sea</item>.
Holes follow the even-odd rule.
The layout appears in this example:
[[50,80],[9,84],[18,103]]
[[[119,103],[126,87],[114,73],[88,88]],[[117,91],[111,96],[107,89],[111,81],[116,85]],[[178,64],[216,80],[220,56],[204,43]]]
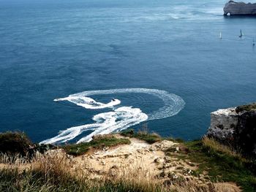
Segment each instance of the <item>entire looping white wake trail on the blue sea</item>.
[[180,96],[177,96],[173,93],[168,93],[167,91],[148,88],[124,88],[99,91],[84,91],[81,93],[69,95],[65,98],[54,99],[54,101],[70,101],[80,107],[97,110],[114,107],[118,104],[121,104],[121,101],[119,101],[118,99],[112,99],[107,104],[104,104],[101,102],[97,102],[94,99],[91,99],[89,96],[116,93],[148,93],[157,96],[159,99],[162,99],[164,106],[159,108],[159,110],[157,111],[149,113],[148,115],[141,112],[139,108],[118,107],[112,112],[102,112],[94,115],[93,120],[96,123],[67,128],[64,131],[60,131],[59,135],[57,135],[56,137],[46,139],[40,143],[52,144],[56,142],[67,142],[71,139],[75,139],[75,137],[82,134],[84,131],[92,131],[91,134],[83,137],[78,141],[78,143],[89,142],[91,140],[91,137],[96,134],[109,134],[113,131],[121,131],[130,126],[135,126],[136,124],[141,123],[145,120],[155,120],[171,117],[178,114],[178,112],[180,112],[185,105],[184,100],[181,99]]

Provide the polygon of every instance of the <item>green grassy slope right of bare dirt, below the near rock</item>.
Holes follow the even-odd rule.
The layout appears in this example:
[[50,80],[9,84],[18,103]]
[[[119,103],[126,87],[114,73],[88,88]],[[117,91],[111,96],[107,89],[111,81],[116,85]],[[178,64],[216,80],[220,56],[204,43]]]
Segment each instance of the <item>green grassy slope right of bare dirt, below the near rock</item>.
[[[195,176],[206,173],[211,181],[234,182],[244,191],[256,191],[255,160],[246,159],[234,152],[230,147],[221,145],[214,139],[184,142],[181,145],[188,148],[180,151],[178,158],[195,162]],[[181,155],[184,153],[183,155]]]

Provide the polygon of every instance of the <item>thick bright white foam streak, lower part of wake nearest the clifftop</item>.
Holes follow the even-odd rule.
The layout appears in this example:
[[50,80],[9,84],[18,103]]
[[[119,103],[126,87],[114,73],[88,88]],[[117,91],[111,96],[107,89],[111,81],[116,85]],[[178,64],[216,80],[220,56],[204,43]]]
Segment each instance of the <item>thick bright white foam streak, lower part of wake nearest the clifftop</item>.
[[113,112],[102,112],[98,115],[94,115],[93,120],[95,120],[96,123],[67,128],[67,130],[61,131],[56,137],[46,139],[45,141],[40,142],[40,144],[67,142],[71,139],[75,139],[75,137],[82,134],[83,131],[92,130],[91,134],[78,141],[78,143],[89,142],[91,137],[95,134],[109,134],[113,131],[121,131],[147,119],[148,115],[141,112],[138,108],[119,107]]

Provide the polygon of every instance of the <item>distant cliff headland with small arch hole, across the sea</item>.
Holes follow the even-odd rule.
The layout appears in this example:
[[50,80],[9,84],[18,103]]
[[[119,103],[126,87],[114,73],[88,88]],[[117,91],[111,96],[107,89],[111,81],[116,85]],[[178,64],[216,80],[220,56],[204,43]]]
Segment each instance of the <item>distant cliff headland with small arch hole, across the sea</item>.
[[223,10],[224,15],[256,15],[256,4],[228,1]]

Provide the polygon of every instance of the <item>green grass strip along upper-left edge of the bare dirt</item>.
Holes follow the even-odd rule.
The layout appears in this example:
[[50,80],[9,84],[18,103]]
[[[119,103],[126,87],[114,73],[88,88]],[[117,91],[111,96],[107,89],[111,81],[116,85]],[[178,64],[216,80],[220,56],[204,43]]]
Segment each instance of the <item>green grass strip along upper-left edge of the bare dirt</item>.
[[91,142],[82,142],[79,144],[64,145],[63,149],[69,155],[83,155],[88,152],[89,149],[102,149],[103,147],[114,147],[117,145],[130,144],[129,139],[116,138],[113,135],[97,135],[93,137]]

